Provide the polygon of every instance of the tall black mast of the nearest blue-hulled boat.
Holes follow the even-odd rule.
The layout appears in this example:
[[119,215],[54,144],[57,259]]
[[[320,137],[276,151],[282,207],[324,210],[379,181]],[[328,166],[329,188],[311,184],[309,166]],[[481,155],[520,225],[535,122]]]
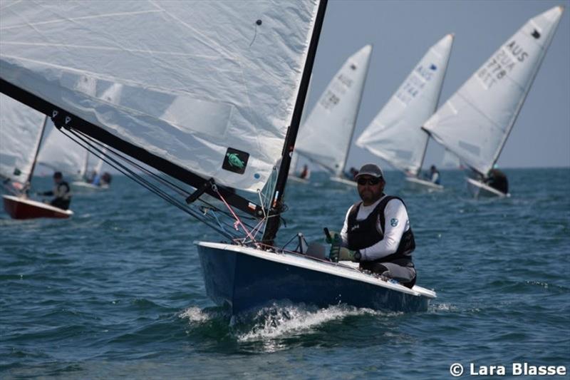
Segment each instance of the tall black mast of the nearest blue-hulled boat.
[[301,123],[301,115],[305,106],[305,98],[309,90],[309,82],[311,81],[311,72],[313,71],[313,63],[316,56],[316,48],[318,45],[318,38],[321,35],[321,28],[323,26],[323,19],[325,16],[326,3],[328,0],[321,0],[318,4],[318,11],[316,14],[315,26],[311,36],[311,43],[309,45],[309,52],[307,53],[305,68],[303,76],[301,77],[301,86],[299,86],[299,94],[295,103],[293,117],[291,118],[291,125],[287,130],[283,151],[281,152],[281,165],[279,166],[279,173],[275,184],[273,197],[271,198],[271,208],[265,226],[264,235],[262,240],[267,245],[273,245],[273,241],[279,230],[279,218],[283,207],[283,193],[289,175],[289,166],[291,165],[291,155],[295,148],[295,140],[299,132],[299,124]]

